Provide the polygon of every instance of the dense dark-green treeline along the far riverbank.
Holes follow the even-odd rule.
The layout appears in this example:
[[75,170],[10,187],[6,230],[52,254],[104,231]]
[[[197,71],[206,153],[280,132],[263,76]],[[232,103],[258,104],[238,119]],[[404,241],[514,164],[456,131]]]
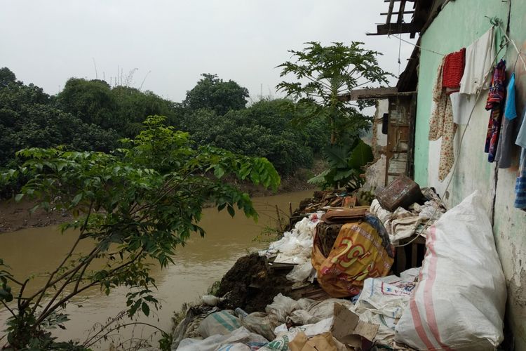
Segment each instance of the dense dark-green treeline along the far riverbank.
[[151,91],[109,86],[106,81],[71,78],[57,95],[18,81],[0,69],[0,170],[20,162],[26,147],[110,152],[121,138],[139,133],[149,115],[191,134],[196,145],[210,144],[249,156],[267,157],[282,176],[309,168],[326,140],[320,120],[292,124],[295,102],[264,99],[248,105],[248,90],[235,81],[203,74],[182,102]]

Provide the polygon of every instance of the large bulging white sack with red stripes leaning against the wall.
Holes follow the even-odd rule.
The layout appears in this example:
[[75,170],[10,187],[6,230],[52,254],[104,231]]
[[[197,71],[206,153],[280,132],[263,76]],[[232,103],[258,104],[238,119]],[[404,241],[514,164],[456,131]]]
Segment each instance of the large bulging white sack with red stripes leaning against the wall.
[[494,350],[503,340],[506,282],[482,201],[471,194],[429,228],[397,341],[419,350]]

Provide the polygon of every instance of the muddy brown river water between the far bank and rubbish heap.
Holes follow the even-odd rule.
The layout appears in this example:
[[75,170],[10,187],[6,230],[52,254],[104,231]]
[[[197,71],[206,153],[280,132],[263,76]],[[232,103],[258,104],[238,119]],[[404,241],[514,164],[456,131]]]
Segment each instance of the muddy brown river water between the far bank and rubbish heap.
[[[178,248],[175,265],[163,270],[159,267],[154,269],[152,275],[159,288],[156,298],[161,300],[162,307],[154,311],[154,316],[140,317],[140,322],[155,324],[168,331],[173,312],[178,312],[183,303],[198,300],[239,257],[268,246],[268,243],[254,239],[262,232],[262,228],[276,223],[276,205],[288,213],[289,202],[292,208],[296,208],[299,201],[311,195],[312,190],[307,190],[252,199],[259,213],[258,223],[242,213],[231,218],[227,211],[217,212],[215,208],[206,208],[201,220],[201,226],[207,232],[205,237],[196,234],[187,246]],[[34,278],[27,289],[28,292],[36,291],[36,287],[43,284],[39,274],[52,271],[69,251],[73,240],[74,235],[68,235],[68,232],[60,234],[57,226],[4,233],[0,234],[0,258],[12,267],[16,278],[23,280],[32,275]],[[58,329],[53,333],[62,340],[83,342],[95,324],[104,324],[126,308],[126,292],[126,289],[116,289],[109,296],[98,289],[86,292],[86,295],[67,306],[71,319],[65,324],[67,329]],[[0,308],[0,338],[4,335],[8,316],[8,311]],[[149,338],[153,332],[151,327],[133,326],[121,329],[118,336],[116,332],[112,334],[115,336],[114,343],[118,344],[130,338]],[[93,331],[91,333],[93,335]],[[109,343],[110,340],[102,341],[95,348],[107,349]]]

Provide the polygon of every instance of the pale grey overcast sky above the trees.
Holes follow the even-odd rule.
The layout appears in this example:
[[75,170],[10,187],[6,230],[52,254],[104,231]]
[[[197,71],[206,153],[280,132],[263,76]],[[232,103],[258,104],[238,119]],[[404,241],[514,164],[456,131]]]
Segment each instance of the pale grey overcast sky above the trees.
[[[365,41],[398,75],[398,39],[365,36],[385,21],[384,0],[0,1],[0,67],[50,94],[69,77],[95,79],[95,60],[99,79],[136,68],[130,86],[146,77],[143,90],[177,102],[201,73],[233,79],[253,99],[261,86],[276,95],[275,67],[306,41]],[[401,43],[402,70],[412,48]]]

